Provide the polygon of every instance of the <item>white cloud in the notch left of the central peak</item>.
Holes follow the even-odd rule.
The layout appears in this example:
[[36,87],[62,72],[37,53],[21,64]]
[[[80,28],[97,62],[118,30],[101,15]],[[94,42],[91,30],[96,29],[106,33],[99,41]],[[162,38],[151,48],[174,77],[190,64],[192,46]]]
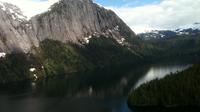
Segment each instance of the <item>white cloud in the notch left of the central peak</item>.
[[8,2],[14,4],[21,8],[24,15],[28,18],[37,15],[39,13],[45,12],[52,4],[58,2],[59,0],[0,0],[2,2]]

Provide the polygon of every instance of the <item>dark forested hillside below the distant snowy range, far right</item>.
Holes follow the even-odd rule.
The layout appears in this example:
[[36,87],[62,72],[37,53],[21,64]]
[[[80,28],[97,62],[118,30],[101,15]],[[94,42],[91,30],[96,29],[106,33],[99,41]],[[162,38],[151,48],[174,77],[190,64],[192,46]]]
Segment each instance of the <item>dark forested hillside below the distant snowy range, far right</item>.
[[169,39],[141,41],[133,47],[147,61],[185,60],[200,57],[200,35],[176,36]]

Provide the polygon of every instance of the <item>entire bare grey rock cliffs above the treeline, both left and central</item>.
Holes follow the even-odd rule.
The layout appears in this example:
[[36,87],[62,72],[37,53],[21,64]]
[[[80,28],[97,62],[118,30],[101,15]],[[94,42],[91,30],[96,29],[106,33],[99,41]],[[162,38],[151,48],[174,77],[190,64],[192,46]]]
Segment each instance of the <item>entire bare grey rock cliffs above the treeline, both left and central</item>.
[[91,35],[111,36],[118,41],[135,36],[113,11],[92,0],[61,0],[29,21],[16,6],[0,5],[0,50],[4,52],[29,52],[45,39],[82,44]]

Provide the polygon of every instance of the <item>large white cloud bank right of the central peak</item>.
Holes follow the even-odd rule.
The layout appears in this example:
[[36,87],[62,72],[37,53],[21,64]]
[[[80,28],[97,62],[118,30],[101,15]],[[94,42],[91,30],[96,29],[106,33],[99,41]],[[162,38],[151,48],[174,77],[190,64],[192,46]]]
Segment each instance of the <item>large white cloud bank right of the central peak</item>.
[[136,33],[152,29],[177,29],[200,22],[200,0],[163,0],[140,7],[107,7]]

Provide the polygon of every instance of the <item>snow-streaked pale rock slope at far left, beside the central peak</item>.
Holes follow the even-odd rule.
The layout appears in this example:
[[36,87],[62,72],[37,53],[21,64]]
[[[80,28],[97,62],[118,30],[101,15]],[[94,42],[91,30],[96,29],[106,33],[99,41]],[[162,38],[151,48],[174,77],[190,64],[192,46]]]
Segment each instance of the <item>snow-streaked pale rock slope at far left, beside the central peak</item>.
[[38,45],[37,38],[21,10],[0,2],[0,51],[27,53],[33,45]]

